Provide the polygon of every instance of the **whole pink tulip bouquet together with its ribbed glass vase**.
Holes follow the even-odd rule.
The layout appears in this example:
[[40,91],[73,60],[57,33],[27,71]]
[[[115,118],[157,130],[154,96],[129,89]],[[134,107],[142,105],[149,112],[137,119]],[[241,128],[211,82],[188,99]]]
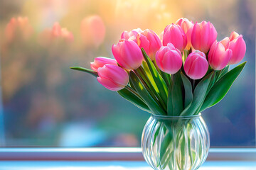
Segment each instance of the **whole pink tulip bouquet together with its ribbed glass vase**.
[[142,134],[142,153],[154,169],[198,169],[209,149],[201,112],[227,94],[242,72],[246,45],[236,32],[217,41],[210,22],[180,18],[161,35],[139,28],[124,31],[112,46],[114,59],[97,57],[91,69],[107,89],[151,114]]

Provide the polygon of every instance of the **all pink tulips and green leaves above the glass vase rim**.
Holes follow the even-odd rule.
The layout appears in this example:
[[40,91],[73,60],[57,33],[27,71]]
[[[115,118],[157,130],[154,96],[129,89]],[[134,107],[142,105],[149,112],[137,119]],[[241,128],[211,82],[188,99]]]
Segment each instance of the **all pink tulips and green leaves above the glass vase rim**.
[[115,60],[97,57],[91,69],[71,67],[97,77],[107,89],[156,115],[197,115],[227,94],[245,62],[242,35],[219,42],[210,22],[180,18],[161,35],[153,30],[124,31],[112,46]]

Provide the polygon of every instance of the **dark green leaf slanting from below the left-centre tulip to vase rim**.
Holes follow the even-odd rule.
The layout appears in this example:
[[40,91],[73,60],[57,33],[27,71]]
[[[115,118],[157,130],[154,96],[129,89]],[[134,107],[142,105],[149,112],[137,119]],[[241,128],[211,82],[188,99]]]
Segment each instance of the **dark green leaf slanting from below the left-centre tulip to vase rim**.
[[161,108],[156,103],[156,101],[154,101],[154,99],[150,96],[149,92],[146,91],[146,88],[142,84],[142,81],[139,80],[139,78],[133,71],[129,72],[129,77],[131,78],[130,83],[133,84],[137,93],[139,94],[139,96],[142,97],[143,101],[146,103],[146,105],[149,107],[152,113],[156,115],[166,115],[163,108]]

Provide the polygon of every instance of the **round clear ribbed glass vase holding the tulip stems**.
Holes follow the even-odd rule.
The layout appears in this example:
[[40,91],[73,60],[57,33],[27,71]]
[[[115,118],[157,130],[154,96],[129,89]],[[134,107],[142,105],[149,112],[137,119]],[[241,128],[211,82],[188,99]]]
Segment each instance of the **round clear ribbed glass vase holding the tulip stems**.
[[210,136],[201,114],[151,115],[142,132],[142,154],[153,169],[198,169],[209,147]]

